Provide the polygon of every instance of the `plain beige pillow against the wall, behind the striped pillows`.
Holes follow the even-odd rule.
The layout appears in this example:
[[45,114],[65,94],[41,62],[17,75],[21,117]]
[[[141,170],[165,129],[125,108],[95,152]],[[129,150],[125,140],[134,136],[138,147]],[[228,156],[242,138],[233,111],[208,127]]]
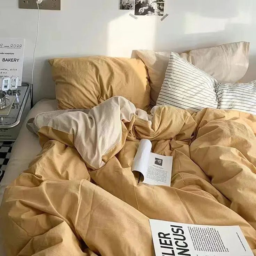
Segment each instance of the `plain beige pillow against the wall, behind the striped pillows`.
[[[249,66],[248,42],[228,43],[217,47],[196,49],[179,54],[183,59],[205,71],[221,83],[239,81]],[[156,104],[165,79],[171,51],[134,50],[132,57],[145,63],[150,79],[151,105]]]

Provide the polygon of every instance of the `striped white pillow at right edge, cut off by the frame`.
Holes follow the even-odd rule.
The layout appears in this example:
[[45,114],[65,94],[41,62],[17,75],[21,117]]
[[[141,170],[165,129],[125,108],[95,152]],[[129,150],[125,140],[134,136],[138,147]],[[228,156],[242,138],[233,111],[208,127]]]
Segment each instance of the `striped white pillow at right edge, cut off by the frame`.
[[233,109],[256,115],[256,80],[217,85],[218,109]]

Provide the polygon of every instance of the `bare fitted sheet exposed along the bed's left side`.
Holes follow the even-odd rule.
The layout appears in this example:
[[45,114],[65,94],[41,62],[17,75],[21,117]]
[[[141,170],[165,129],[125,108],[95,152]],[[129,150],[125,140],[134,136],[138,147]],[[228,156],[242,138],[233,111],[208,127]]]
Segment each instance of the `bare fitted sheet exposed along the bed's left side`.
[[[37,114],[57,110],[56,99],[43,99],[39,101],[31,109],[27,115],[25,122],[19,132],[13,149],[11,151],[11,157],[6,167],[5,175],[3,176],[0,184],[0,204],[3,197],[3,192],[6,186],[13,182],[24,170],[29,166],[29,163],[35,158],[35,156],[41,151],[41,147],[38,142],[38,136],[31,133],[26,128],[26,121],[30,118],[34,118]],[[5,256],[2,239],[0,239],[0,255]]]

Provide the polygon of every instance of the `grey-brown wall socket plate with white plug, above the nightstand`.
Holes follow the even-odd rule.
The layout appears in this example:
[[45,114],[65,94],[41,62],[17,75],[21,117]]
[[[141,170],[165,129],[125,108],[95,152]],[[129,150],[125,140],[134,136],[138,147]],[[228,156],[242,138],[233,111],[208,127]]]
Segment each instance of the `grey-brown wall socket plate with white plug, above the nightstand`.
[[[61,10],[61,0],[43,0],[38,6],[44,10]],[[37,9],[37,0],[19,0],[19,8]]]

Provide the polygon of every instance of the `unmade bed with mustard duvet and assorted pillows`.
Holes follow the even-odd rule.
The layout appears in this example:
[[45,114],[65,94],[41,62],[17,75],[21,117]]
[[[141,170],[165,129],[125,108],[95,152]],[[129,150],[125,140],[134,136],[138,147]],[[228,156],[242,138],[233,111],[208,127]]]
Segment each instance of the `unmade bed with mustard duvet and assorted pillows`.
[[[254,82],[236,83],[248,50],[239,42],[50,60],[57,102],[32,109],[1,184],[1,195],[9,185],[0,213],[9,255],[154,255],[149,219],[239,225],[256,255],[256,104],[233,95],[241,86],[255,93]],[[207,66],[205,52],[224,52],[225,65]],[[177,77],[177,65],[189,72]],[[197,74],[189,84],[187,73]],[[143,138],[174,157],[170,187],[138,184],[131,173]]]

